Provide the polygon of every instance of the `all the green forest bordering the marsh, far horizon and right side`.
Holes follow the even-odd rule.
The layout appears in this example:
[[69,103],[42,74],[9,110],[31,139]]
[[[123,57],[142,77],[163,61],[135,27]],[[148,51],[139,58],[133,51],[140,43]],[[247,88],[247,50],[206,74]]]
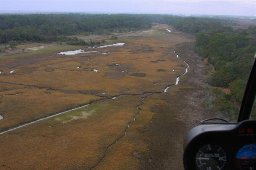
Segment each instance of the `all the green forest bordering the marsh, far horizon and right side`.
[[231,25],[236,23],[232,20],[159,14],[0,15],[0,43],[9,43],[11,47],[20,42],[56,41],[67,45],[94,45],[101,42],[85,42],[69,35],[111,35],[112,32],[149,29],[154,23],[170,24],[180,31],[196,35],[196,52],[207,58],[215,69],[206,70],[210,74],[207,83],[229,88],[233,95],[213,89],[214,100],[206,107],[228,117],[237,115],[239,107],[235,101],[242,101],[256,52],[256,27],[233,30]]

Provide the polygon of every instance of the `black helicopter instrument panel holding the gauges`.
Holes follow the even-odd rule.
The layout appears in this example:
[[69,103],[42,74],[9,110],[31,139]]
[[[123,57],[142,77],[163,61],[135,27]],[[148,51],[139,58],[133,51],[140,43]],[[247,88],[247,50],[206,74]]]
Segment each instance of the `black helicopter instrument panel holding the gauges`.
[[256,170],[256,121],[192,128],[183,161],[185,170]]

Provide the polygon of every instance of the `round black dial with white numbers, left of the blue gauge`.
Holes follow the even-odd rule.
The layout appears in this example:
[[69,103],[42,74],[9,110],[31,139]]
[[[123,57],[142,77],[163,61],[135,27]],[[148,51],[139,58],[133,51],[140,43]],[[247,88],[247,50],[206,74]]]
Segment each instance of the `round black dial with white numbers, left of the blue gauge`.
[[227,153],[218,145],[206,144],[195,155],[195,167],[198,170],[224,170]]

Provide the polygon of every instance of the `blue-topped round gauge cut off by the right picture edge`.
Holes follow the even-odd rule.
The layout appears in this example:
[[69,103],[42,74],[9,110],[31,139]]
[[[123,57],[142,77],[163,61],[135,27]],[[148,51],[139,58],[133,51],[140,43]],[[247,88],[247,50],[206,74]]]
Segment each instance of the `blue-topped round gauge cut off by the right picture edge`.
[[248,144],[238,150],[236,154],[238,167],[243,170],[256,169],[256,144]]

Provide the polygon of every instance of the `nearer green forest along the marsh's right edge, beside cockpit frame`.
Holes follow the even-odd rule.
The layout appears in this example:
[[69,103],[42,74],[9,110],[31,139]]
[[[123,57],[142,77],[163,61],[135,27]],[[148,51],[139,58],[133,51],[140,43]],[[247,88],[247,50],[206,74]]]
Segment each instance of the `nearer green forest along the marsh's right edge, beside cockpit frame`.
[[[206,80],[212,86],[231,90],[235,100],[242,102],[243,93],[256,53],[256,27],[233,30],[220,27],[208,33],[196,35],[195,49],[200,56],[207,58],[214,71]],[[208,71],[207,71],[208,72]],[[213,110],[235,119],[238,106],[230,95],[213,90],[215,100]],[[256,117],[254,104],[253,117]]]

